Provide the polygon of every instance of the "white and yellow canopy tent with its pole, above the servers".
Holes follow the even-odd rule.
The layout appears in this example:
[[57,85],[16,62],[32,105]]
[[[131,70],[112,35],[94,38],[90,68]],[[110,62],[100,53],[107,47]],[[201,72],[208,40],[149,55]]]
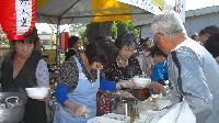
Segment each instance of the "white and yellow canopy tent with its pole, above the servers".
[[[42,1],[42,0],[38,0]],[[44,0],[45,1],[45,0]],[[58,44],[58,35],[60,32],[60,24],[70,24],[70,23],[91,23],[93,22],[93,18],[105,18],[105,16],[116,16],[116,19],[123,20],[126,15],[130,15],[130,20],[132,22],[139,21],[140,18],[148,19],[148,15],[152,15],[152,13],[140,9],[135,5],[126,5],[118,7],[115,4],[110,9],[93,9],[92,2],[103,2],[104,0],[47,0],[43,7],[37,9],[37,18],[36,22],[38,23],[48,23],[48,24],[57,24],[57,38],[56,43]],[[105,0],[104,4],[111,4],[113,0]],[[130,0],[131,1],[131,0]],[[149,0],[142,0],[149,1]],[[151,1],[151,0],[150,0]],[[153,0],[155,1],[155,0]],[[160,0],[163,1],[163,0]],[[114,0],[114,3],[117,2]],[[128,10],[128,12],[127,12]],[[106,12],[107,11],[107,12]],[[122,12],[117,12],[122,11]],[[94,14],[99,12],[99,14]],[[101,13],[101,14],[100,14]],[[145,16],[145,18],[143,18]],[[103,21],[99,19],[99,21]],[[116,21],[119,21],[116,20]],[[108,20],[115,21],[115,20]],[[58,49],[57,49],[57,58],[56,62],[58,64]]]

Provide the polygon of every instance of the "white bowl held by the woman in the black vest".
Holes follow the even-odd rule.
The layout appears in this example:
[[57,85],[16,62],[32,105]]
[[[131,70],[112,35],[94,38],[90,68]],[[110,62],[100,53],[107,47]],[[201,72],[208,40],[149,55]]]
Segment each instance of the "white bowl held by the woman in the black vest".
[[27,96],[32,99],[44,99],[48,96],[49,88],[38,87],[38,88],[26,88]]

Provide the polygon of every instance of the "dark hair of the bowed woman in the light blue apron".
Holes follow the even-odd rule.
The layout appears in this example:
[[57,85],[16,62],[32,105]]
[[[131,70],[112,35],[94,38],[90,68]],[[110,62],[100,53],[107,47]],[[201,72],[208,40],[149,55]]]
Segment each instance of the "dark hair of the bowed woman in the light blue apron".
[[99,62],[104,67],[114,62],[116,52],[117,49],[112,40],[106,36],[100,36],[94,41],[90,41],[84,51],[90,65]]

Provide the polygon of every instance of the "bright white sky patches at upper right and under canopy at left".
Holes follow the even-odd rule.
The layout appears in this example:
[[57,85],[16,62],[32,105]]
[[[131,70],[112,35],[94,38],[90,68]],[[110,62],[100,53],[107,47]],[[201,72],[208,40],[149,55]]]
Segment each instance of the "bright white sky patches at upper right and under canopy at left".
[[[175,0],[165,0],[165,2],[168,4],[174,4]],[[205,7],[212,7],[212,5],[219,5],[219,0],[186,0],[185,2],[185,10],[196,10],[196,9],[200,9],[200,8],[205,8]],[[36,27],[38,29],[38,32],[51,32],[51,27],[46,24],[46,23],[41,23],[41,24],[36,24]],[[53,26],[54,29],[54,26]],[[68,25],[62,25],[60,27],[60,31],[69,31],[69,26]]]

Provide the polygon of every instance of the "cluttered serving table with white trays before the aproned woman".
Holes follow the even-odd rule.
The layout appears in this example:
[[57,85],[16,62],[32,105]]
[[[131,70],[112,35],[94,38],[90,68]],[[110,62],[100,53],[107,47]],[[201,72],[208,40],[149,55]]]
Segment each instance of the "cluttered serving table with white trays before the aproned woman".
[[171,100],[157,96],[145,101],[137,102],[138,111],[132,115],[119,114],[119,112],[107,113],[102,116],[95,116],[88,121],[88,123],[150,123],[151,119],[161,110],[171,105]]

